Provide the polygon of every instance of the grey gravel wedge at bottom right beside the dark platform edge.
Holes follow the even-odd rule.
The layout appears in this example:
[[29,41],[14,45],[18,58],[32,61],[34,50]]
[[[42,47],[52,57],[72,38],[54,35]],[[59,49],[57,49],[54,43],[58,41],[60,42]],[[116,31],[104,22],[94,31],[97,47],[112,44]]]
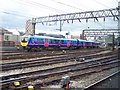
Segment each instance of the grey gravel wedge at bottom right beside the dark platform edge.
[[77,81],[73,81],[74,83],[71,86],[76,87],[76,88],[85,88],[88,85],[90,85],[90,84],[102,79],[103,77],[106,77],[106,76],[116,72],[116,71],[118,71],[118,68],[112,68],[110,70],[105,70],[102,72],[84,76],[84,77],[79,78],[79,80],[77,80]]

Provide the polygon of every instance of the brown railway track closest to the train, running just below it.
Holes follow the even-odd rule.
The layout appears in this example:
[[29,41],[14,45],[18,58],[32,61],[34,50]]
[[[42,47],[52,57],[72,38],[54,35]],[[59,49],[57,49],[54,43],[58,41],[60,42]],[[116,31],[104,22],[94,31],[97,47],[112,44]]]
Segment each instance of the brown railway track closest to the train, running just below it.
[[105,51],[105,49],[98,49],[98,50],[66,50],[66,53],[62,51],[43,51],[43,52],[12,52],[12,53],[3,53],[2,60],[10,60],[10,59],[26,59],[26,58],[35,58],[35,57],[42,57],[42,56],[52,56],[52,55],[63,55],[63,54],[89,54],[89,53],[97,53]]

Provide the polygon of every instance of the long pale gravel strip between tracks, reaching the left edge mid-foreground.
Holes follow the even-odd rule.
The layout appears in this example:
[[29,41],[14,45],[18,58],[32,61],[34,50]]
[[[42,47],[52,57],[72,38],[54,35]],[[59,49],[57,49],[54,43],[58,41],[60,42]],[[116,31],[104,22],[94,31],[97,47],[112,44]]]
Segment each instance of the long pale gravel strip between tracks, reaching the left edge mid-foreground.
[[[101,59],[100,58],[93,58],[93,59],[86,59],[84,62],[88,62],[91,60],[96,60],[96,59]],[[2,76],[8,76],[8,75],[13,75],[13,74],[20,74],[20,73],[26,73],[26,72],[32,72],[32,71],[38,71],[38,70],[44,70],[44,69],[49,69],[49,68],[55,68],[55,67],[62,67],[62,66],[67,66],[67,65],[73,65],[73,64],[78,64],[82,62],[78,62],[76,60],[70,60],[67,62],[63,63],[56,63],[56,64],[51,64],[51,65],[44,65],[44,66],[36,66],[36,67],[30,67],[30,68],[23,68],[23,69],[15,69],[15,70],[9,70],[9,71],[3,71],[0,74],[0,77]]]

